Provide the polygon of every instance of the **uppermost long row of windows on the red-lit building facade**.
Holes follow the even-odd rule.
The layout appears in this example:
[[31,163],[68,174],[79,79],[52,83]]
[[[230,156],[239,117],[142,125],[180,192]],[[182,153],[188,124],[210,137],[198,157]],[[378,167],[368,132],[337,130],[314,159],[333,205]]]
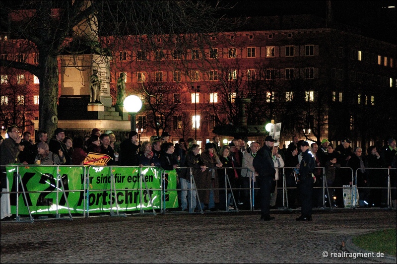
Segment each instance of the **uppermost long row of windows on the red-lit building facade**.
[[[315,56],[318,55],[318,46],[317,45],[304,45],[304,46],[266,46],[266,47],[246,47],[243,48],[244,53],[242,57],[245,58],[258,58],[258,57],[296,57],[296,56]],[[218,48],[210,48],[208,50],[208,55],[204,54],[200,49],[192,49],[189,52],[180,51],[180,50],[171,50],[169,54],[164,52],[163,50],[154,51],[154,60],[162,61],[167,58],[172,60],[182,60],[182,59],[191,59],[191,60],[199,60],[203,56],[208,57],[209,59],[217,59],[219,58],[237,58],[241,51],[239,48],[228,48],[223,51],[223,54],[219,53],[220,49]],[[261,52],[262,54],[259,54]],[[139,50],[135,54],[135,58],[137,61],[146,61],[148,60],[148,52]],[[118,56],[119,61],[131,61],[132,60],[132,52],[131,51],[119,51]]]

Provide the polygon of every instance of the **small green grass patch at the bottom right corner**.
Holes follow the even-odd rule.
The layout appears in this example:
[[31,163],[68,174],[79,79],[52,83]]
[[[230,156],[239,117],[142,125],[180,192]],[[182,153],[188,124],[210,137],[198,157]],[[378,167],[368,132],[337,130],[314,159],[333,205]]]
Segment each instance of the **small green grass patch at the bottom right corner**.
[[396,228],[384,229],[353,238],[354,245],[372,252],[396,256]]

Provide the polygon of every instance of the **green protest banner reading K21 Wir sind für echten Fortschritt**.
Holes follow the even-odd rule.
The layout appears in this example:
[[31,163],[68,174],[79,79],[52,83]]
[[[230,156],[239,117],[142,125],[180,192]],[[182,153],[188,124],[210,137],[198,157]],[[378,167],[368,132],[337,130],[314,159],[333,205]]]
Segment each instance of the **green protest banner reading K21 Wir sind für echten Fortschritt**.
[[[68,213],[61,182],[57,183],[58,174],[64,184],[71,213],[83,213],[84,201],[89,212],[109,212],[117,208],[119,211],[133,211],[140,210],[141,206],[143,209],[151,209],[151,206],[154,209],[161,207],[162,170],[157,167],[19,166],[18,168],[32,214],[55,214],[57,208],[58,213]],[[58,172],[57,168],[59,168]],[[16,192],[14,176],[16,170],[17,167],[7,167],[11,192]],[[88,179],[87,192],[85,172]],[[114,185],[111,173],[114,175]],[[178,207],[177,191],[172,191],[176,189],[176,172],[167,171],[165,176],[166,207]],[[28,214],[20,183],[18,192],[18,214]],[[152,198],[151,203],[149,194]],[[16,195],[11,194],[10,198],[11,213],[16,213]]]

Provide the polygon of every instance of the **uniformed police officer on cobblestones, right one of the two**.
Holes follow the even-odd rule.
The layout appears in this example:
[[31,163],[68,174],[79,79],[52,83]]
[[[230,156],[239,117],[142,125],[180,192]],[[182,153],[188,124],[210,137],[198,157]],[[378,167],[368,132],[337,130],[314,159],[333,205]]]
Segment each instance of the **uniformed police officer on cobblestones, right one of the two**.
[[299,143],[302,151],[302,160],[299,166],[299,196],[302,203],[301,216],[296,221],[312,220],[313,175],[316,168],[316,159],[310,151],[309,143],[301,140]]

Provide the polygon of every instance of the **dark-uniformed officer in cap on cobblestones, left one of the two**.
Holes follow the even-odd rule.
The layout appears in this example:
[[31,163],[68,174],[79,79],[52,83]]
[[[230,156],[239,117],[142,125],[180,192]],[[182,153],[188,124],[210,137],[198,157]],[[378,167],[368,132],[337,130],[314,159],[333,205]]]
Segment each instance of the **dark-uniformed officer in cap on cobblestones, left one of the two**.
[[258,151],[254,158],[253,166],[258,173],[259,186],[261,188],[261,219],[273,220],[270,216],[270,193],[271,183],[275,178],[275,169],[272,159],[274,140],[270,135],[266,136],[264,146]]

